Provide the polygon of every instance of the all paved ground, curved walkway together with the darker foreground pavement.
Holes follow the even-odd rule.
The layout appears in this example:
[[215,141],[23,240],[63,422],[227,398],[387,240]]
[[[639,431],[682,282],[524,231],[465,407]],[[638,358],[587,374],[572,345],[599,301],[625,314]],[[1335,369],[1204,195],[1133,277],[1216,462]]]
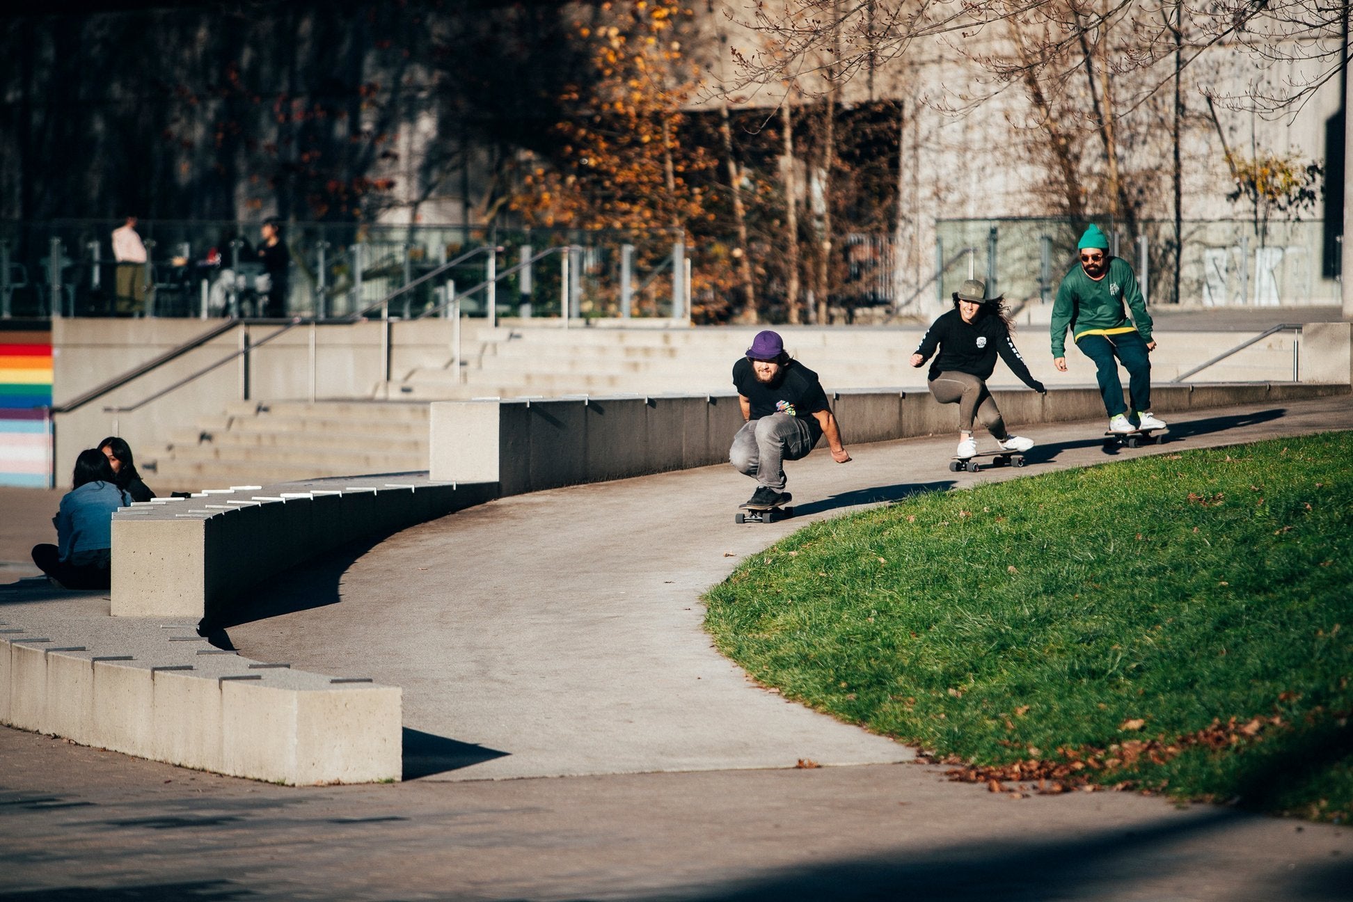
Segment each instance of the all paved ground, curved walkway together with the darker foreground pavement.
[[[1353,404],[1170,419],[1170,444],[1116,456],[1353,429]],[[785,523],[735,525],[752,484],[718,467],[300,568],[227,638],[403,686],[406,782],[276,787],[0,730],[0,899],[1353,899],[1348,828],[947,783],[710,648],[700,592],[808,519],[1114,458],[1100,421],[1015,427],[1039,442],[1024,469],[950,473],[954,437],[817,452],[789,465]],[[30,604],[107,610],[0,590],[0,618]]]

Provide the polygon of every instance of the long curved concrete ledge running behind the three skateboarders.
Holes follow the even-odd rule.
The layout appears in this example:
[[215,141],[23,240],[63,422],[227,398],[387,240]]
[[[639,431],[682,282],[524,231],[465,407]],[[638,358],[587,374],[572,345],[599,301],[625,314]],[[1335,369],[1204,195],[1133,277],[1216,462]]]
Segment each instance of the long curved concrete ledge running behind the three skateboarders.
[[[1174,414],[1349,391],[1348,381],[1154,385],[1151,402],[1155,412]],[[994,389],[992,395],[1012,429],[1104,418],[1095,387],[1053,388],[1047,395]],[[958,406],[939,404],[930,392],[858,389],[832,398],[847,445],[958,431]],[[741,425],[733,392],[434,402],[429,475],[444,481],[497,483],[506,496],[708,467],[728,460],[728,446]],[[116,553],[116,525],[114,530]]]

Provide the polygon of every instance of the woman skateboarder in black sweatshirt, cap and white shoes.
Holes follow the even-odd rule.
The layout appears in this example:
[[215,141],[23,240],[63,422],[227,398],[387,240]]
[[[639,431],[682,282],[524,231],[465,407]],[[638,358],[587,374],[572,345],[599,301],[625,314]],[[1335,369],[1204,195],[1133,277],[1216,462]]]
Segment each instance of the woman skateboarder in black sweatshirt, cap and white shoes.
[[939,350],[927,379],[935,400],[958,404],[959,441],[954,453],[962,460],[977,453],[974,418],[982,421],[1003,452],[1026,452],[1034,446],[1031,440],[1005,431],[996,399],[986,391],[986,380],[996,369],[996,354],[1000,354],[1020,381],[1040,395],[1047,394],[1043,383],[1034,379],[1024,365],[1015,348],[1013,333],[1005,312],[1005,298],[988,298],[986,283],[969,279],[954,292],[954,310],[940,314],[931,323],[920,348],[912,354],[912,366],[921,366]]

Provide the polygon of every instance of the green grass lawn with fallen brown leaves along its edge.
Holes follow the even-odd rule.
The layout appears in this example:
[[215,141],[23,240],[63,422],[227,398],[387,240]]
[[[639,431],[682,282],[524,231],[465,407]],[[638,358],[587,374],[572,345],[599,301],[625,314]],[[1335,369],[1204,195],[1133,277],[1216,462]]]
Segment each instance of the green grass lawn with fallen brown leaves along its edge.
[[785,696],[993,790],[1346,822],[1350,550],[1353,434],[1311,435],[813,523],[710,590],[706,629]]

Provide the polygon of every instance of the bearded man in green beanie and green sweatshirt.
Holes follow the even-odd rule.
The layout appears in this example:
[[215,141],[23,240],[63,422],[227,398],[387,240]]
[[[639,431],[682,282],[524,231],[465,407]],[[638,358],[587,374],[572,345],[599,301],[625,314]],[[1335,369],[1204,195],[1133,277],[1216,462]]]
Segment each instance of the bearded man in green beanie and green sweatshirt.
[[[1053,365],[1066,372],[1066,329],[1070,326],[1076,346],[1099,369],[1109,430],[1165,429],[1165,423],[1151,415],[1149,354],[1155,350],[1155,342],[1151,339],[1151,315],[1146,312],[1137,276],[1126,260],[1109,256],[1108,238],[1099,226],[1085,230],[1077,249],[1080,265],[1068,270],[1053,304]],[[1123,308],[1124,303],[1132,311],[1131,319]],[[1127,369],[1131,411],[1123,403],[1118,361]]]

